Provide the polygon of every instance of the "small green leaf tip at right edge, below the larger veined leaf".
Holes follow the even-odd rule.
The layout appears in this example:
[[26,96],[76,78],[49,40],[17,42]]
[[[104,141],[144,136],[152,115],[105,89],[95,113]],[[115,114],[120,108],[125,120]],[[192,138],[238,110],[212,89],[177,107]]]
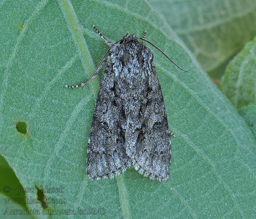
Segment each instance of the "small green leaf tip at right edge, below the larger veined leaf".
[[251,129],[252,134],[256,138],[256,104],[241,107],[238,112],[244,118],[246,124]]

